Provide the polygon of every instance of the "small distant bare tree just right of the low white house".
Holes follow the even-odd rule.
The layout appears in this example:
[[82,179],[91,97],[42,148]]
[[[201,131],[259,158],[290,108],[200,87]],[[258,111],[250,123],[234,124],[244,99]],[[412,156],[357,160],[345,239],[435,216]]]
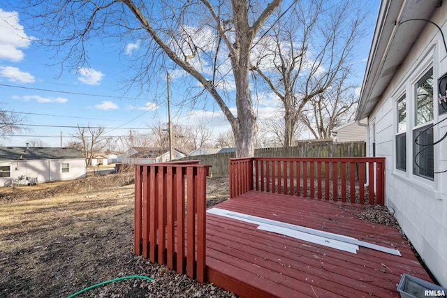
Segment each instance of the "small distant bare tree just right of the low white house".
[[91,160],[95,154],[101,152],[107,147],[108,138],[104,135],[104,128],[91,128],[90,126],[79,126],[78,131],[73,135],[79,142],[73,144],[75,148],[78,148],[82,155],[85,157],[85,165],[89,167]]

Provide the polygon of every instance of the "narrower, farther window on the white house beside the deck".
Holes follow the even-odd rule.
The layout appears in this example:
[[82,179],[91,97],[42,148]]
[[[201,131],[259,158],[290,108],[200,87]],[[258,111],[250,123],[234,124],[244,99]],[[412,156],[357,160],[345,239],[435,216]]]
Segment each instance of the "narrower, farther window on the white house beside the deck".
[[406,98],[397,100],[396,169],[406,171]]

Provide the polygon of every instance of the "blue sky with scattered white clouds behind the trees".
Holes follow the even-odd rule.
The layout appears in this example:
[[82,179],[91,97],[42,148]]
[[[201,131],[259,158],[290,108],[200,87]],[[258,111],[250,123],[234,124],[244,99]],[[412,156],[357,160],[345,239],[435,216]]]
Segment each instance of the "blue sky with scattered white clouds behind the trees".
[[[363,1],[370,6],[367,34],[358,45],[354,61],[357,79],[361,83],[367,53],[371,44],[379,0]],[[29,131],[22,131],[7,139],[0,139],[3,146],[24,146],[31,140],[41,140],[45,146],[58,147],[60,135],[65,145],[73,140],[75,128],[63,126],[104,126],[108,135],[128,135],[129,128],[147,132],[147,125],[168,119],[166,103],[159,96],[166,96],[166,86],[141,96],[138,90],[126,90],[125,80],[132,77],[133,55],[141,51],[133,40],[112,43],[96,40],[89,47],[89,67],[78,70],[61,70],[59,60],[52,59],[54,52],[32,41],[38,32],[24,27],[23,17],[0,3],[0,102],[3,110],[22,113],[27,118]],[[163,77],[166,74],[160,74]],[[162,82],[162,81],[161,81]],[[191,82],[191,81],[189,81]],[[217,135],[230,126],[212,103],[197,105],[196,110],[179,105],[184,98],[182,76],[171,80],[173,122],[194,125],[203,121]],[[64,91],[64,92],[59,92]],[[259,108],[258,117],[268,117],[277,106],[266,100]],[[193,117],[188,117],[193,114]],[[52,127],[56,126],[56,127]]]

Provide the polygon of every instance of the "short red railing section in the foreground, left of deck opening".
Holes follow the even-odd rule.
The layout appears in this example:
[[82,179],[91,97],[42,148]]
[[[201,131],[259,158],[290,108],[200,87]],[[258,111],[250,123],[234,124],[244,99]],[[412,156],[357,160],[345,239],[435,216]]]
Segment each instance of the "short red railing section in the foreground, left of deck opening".
[[134,251],[203,283],[210,166],[198,163],[135,165]]

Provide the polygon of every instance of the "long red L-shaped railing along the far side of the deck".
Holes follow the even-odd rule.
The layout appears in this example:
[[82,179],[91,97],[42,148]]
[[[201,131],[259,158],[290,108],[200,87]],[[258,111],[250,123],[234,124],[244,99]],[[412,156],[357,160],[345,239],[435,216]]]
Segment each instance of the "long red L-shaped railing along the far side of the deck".
[[251,190],[384,204],[385,158],[230,159],[230,198]]

